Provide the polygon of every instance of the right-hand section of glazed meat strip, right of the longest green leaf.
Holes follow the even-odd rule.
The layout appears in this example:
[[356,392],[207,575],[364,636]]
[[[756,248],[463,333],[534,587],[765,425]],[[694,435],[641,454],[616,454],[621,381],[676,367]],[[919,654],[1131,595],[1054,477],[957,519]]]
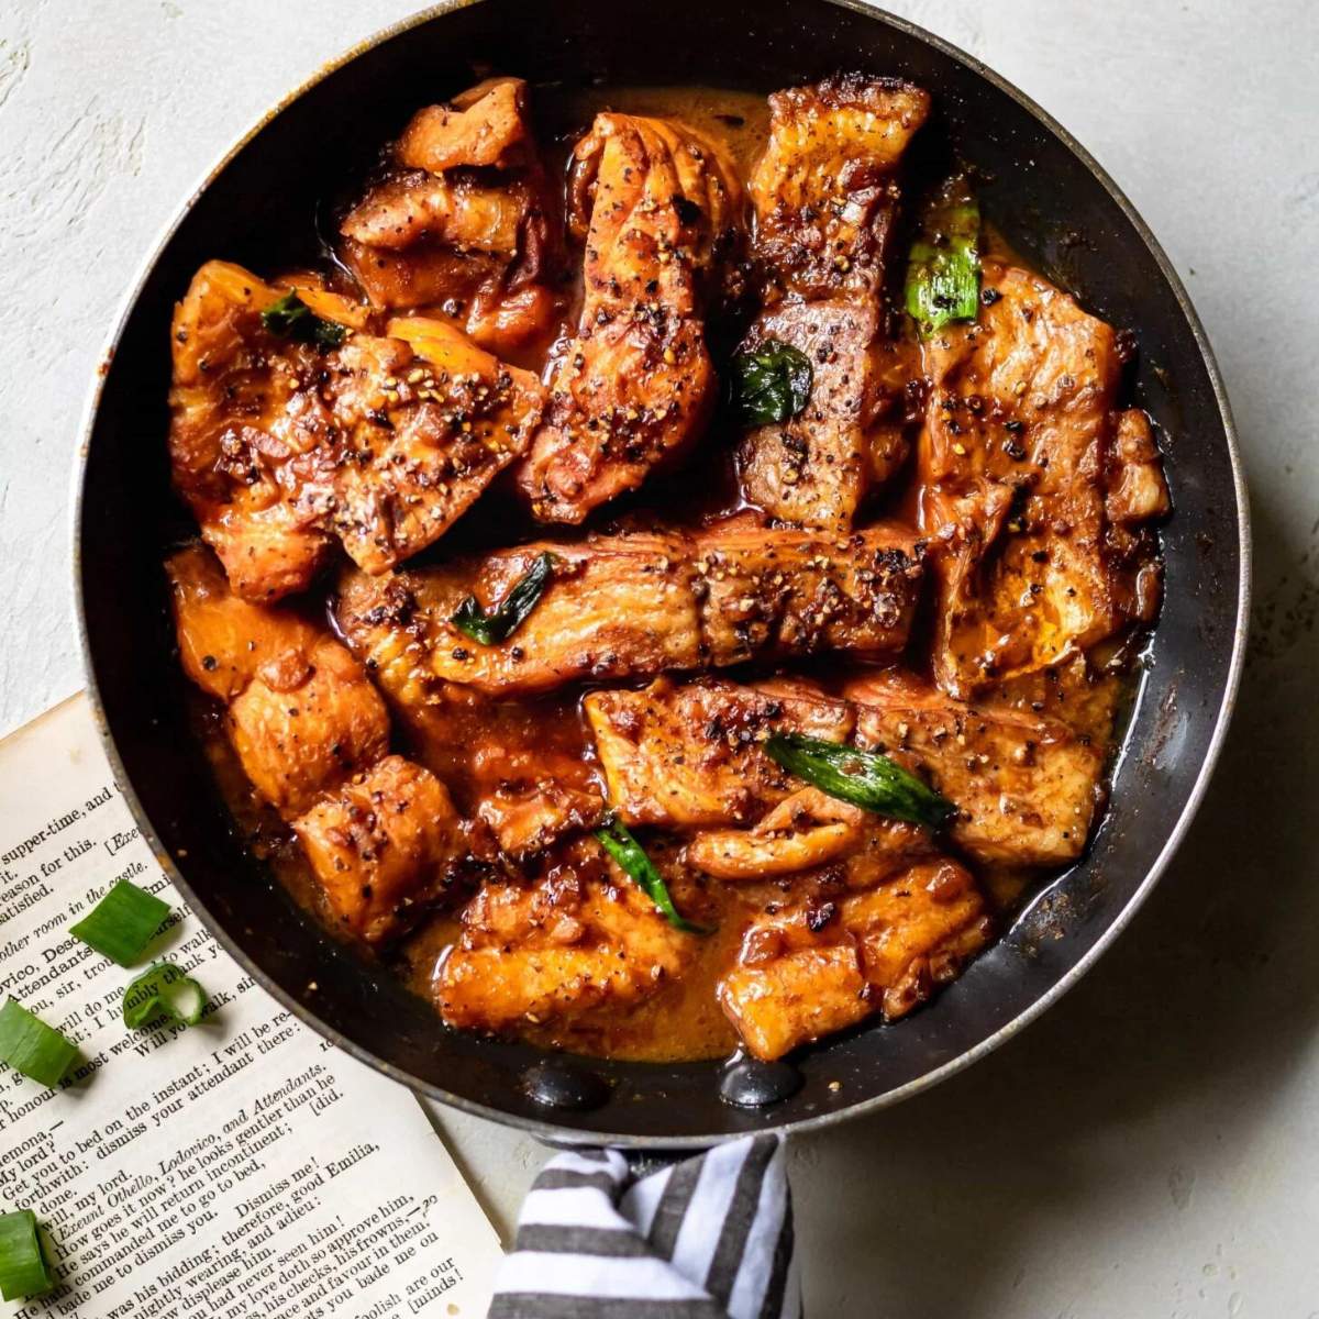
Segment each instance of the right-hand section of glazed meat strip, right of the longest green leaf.
[[964,704],[890,671],[849,683],[859,745],[926,773],[959,815],[950,832],[987,864],[1066,865],[1100,803],[1103,745],[1059,719]]

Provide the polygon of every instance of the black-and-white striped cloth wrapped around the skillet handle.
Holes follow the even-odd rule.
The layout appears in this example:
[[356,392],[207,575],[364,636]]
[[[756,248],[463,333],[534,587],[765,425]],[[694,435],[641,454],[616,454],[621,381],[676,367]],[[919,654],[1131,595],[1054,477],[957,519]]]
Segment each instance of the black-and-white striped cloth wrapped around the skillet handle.
[[489,1319],[801,1319],[774,1136],[633,1179],[617,1150],[550,1159],[522,1204]]

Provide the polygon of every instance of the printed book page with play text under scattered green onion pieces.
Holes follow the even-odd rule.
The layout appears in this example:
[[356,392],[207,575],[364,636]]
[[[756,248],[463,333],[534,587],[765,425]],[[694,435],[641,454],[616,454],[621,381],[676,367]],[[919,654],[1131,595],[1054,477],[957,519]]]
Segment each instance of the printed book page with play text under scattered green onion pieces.
[[[140,971],[69,934],[119,878],[173,906],[148,960],[204,987],[199,1025],[129,1030]],[[61,1279],[0,1314],[485,1312],[499,1241],[421,1105],[286,1013],[200,926],[138,835],[86,696],[0,743],[7,997],[80,1058],[58,1089],[0,1067],[0,1211],[37,1215]]]

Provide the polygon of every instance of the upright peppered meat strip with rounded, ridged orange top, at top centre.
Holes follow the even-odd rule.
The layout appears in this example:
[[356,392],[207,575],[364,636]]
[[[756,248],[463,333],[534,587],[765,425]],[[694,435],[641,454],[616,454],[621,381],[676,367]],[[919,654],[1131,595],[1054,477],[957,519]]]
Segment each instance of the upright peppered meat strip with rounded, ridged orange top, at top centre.
[[700,434],[716,393],[704,306],[743,232],[732,162],[677,120],[598,115],[572,190],[579,210],[591,197],[582,315],[518,471],[545,522],[580,522]]

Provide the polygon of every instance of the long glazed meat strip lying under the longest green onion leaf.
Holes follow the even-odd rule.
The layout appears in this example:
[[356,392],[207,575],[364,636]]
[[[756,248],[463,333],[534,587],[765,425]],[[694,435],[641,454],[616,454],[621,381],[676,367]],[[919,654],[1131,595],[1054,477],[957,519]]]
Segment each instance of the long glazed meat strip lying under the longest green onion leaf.
[[818,801],[805,811],[809,827],[776,818],[786,807],[802,814],[814,790],[765,754],[774,731],[855,739],[893,756],[958,806],[950,835],[987,864],[1076,860],[1101,797],[1104,747],[1062,719],[1005,700],[963,704],[897,671],[853,679],[843,698],[802,681],[661,679],[644,691],[591,692],[583,708],[609,805],[629,824],[715,831],[689,857],[725,880],[849,859],[873,832],[876,816],[832,799],[832,815],[822,816]]

